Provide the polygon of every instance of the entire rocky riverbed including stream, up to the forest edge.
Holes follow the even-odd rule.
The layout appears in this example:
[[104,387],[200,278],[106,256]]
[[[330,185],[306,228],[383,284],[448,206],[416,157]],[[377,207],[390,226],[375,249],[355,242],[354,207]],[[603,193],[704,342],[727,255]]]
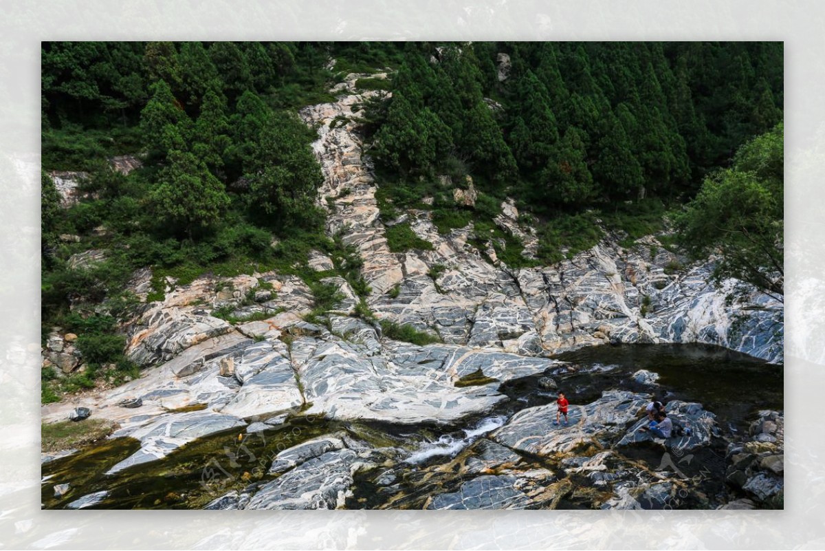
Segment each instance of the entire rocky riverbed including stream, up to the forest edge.
[[[336,102],[301,112],[318,128],[318,204],[328,233],[364,261],[375,317],[443,343],[393,341],[353,317],[358,298],[341,277],[326,280],[345,299],[322,323],[302,318],[313,296],[294,275],[168,280],[165,298],[124,327],[143,376],[43,407],[45,422],[87,407],[120,426],[105,444],[44,464],[44,506],[780,503],[782,304],[729,300],[735,282],[710,285],[712,261],[673,270],[680,259],[654,238],[626,248],[609,236],[558,265],[516,270],[468,242],[472,224],[441,235],[428,211],[410,210],[433,250],[390,252],[392,221],[380,218],[380,182],[353,113],[379,92],[356,90],[358,77],[335,88]],[[518,220],[505,202],[497,224],[530,255],[535,232]],[[332,261],[314,252],[310,265],[323,272]],[[433,266],[444,269],[433,277]],[[151,276],[139,271],[131,283],[144,301]],[[213,315],[226,307],[265,319]],[[73,338],[54,332],[45,363],[81,369]],[[564,352],[574,356],[556,357]],[[551,424],[559,387],[575,404],[569,426]],[[652,393],[672,393],[669,411],[691,423],[690,437],[639,436]]]

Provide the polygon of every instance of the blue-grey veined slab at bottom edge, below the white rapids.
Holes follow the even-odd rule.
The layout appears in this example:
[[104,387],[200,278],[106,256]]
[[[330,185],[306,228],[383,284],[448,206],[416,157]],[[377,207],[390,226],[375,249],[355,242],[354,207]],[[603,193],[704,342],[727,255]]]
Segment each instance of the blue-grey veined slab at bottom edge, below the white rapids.
[[524,509],[530,498],[517,490],[514,476],[480,476],[461,485],[458,492],[432,498],[427,509]]

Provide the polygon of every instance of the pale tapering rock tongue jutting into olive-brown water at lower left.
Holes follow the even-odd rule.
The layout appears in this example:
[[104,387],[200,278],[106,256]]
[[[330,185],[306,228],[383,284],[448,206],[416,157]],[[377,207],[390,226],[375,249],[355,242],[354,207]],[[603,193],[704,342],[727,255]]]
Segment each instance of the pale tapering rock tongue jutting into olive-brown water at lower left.
[[140,450],[106,473],[119,473],[133,465],[163,459],[193,440],[243,426],[246,426],[243,419],[209,411],[167,414],[133,431],[130,436],[140,440]]

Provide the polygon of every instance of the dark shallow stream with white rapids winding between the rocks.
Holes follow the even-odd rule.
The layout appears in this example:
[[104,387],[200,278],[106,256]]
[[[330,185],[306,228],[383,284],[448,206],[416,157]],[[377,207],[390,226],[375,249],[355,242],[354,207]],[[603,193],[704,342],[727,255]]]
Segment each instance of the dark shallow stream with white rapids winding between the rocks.
[[[662,402],[680,399],[702,403],[714,412],[720,437],[715,450],[707,450],[704,464],[718,480],[709,492],[724,492],[724,459],[719,462],[724,440],[736,439],[764,409],[783,408],[783,369],[717,346],[619,345],[597,346],[559,356],[567,367],[550,370],[501,385],[508,400],[487,415],[468,419],[462,426],[368,426],[330,422],[322,418],[295,417],[284,426],[247,435],[229,431],[184,446],[165,459],[126,469],[115,475],[106,470],[137,450],[137,440],[106,440],[101,445],[55,459],[42,466],[42,503],[62,509],[93,492],[106,497],[93,507],[111,509],[200,508],[229,490],[241,490],[273,478],[266,473],[272,458],[281,450],[332,431],[348,431],[377,447],[398,449],[401,458],[392,469],[408,481],[405,495],[377,492],[366,478],[356,477],[351,507],[418,507],[433,490],[417,485],[416,473],[434,465],[450,464],[475,440],[497,429],[525,407],[552,403],[554,391],[540,388],[540,377],[549,375],[571,404],[590,403],[609,389],[655,393]],[[639,384],[633,374],[649,370],[660,375],[657,385]],[[661,457],[643,447],[634,459],[653,464]],[[714,459],[714,457],[716,459]],[[535,458],[532,458],[535,459]],[[409,476],[407,476],[409,474]],[[460,478],[460,473],[455,477]],[[70,483],[64,497],[54,497],[55,484]],[[445,487],[449,487],[449,483]],[[444,486],[439,483],[439,488]],[[711,500],[713,501],[713,500]],[[576,502],[559,506],[575,507]],[[687,506],[691,506],[690,503]]]

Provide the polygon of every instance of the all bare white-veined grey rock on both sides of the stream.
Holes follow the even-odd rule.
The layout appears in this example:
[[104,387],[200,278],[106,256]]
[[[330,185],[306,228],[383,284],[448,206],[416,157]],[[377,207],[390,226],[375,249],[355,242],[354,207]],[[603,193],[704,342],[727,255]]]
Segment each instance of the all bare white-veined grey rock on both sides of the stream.
[[[294,275],[203,277],[181,286],[168,281],[165,299],[146,304],[126,327],[128,356],[150,366],[143,376],[111,391],[42,407],[45,422],[88,407],[94,417],[120,424],[113,437],[139,440],[139,450],[111,465],[108,473],[145,467],[210,435],[233,431],[243,440],[243,435],[281,426],[299,412],[398,431],[422,425],[454,428],[506,403],[502,384],[564,368],[549,356],[585,346],[707,343],[772,363],[783,361],[783,304],[755,292],[729,300],[735,282],[721,290],[709,283],[713,261],[673,273],[678,259],[654,238],[625,248],[609,237],[554,266],[511,269],[502,261],[491,263],[468,243],[471,225],[441,235],[428,211],[411,210],[406,214],[410,227],[433,249],[390,252],[384,236],[389,221],[380,219],[375,199],[380,182],[362,156],[358,116],[352,111],[356,103],[380,93],[357,92],[356,80],[363,76],[348,75],[337,85],[337,101],[300,111],[308,125],[318,128],[313,147],[324,174],[318,205],[335,206],[328,212],[327,233],[340,235],[361,256],[362,275],[371,288],[366,303],[375,316],[437,333],[443,344],[393,341],[377,323],[351,317],[359,298],[341,277],[325,280],[345,297],[328,314],[326,325],[303,320],[313,295]],[[519,224],[512,200],[502,205],[496,223],[521,239],[524,254],[535,254],[535,232]],[[433,280],[436,265],[445,269]],[[332,261],[313,252],[310,266],[325,271]],[[146,296],[150,278],[148,271],[135,276],[136,294]],[[396,288],[397,293],[389,293]],[[265,319],[233,324],[212,315],[214,308],[226,306],[236,308],[233,315],[240,318],[263,313]],[[636,384],[653,384],[650,375]],[[479,378],[479,384],[462,384],[469,377]],[[602,508],[666,502],[681,488],[676,475],[653,473],[602,450],[655,444],[639,432],[644,421],[637,421],[649,397],[604,389],[601,398],[571,407],[570,425],[561,427],[552,425],[554,406],[525,407],[506,421],[479,423],[483,430],[430,442],[426,454],[376,446],[347,430],[331,430],[271,458],[266,472],[276,475],[274,480],[233,489],[207,508],[342,507],[358,498],[353,485],[364,473],[370,487],[378,488],[381,507],[554,507],[571,495],[569,478],[527,457],[557,461],[563,473],[600,488],[597,497],[574,493],[580,501],[587,498]],[[139,408],[121,405],[138,398]],[[669,407],[676,420],[695,424],[693,435],[682,440],[683,449],[708,445],[716,434],[713,413],[699,403],[674,401]],[[731,448],[730,476],[755,498],[774,498],[781,491],[782,442],[776,440],[783,433],[775,430],[777,419],[779,413],[765,413],[759,422],[768,427],[760,433],[766,436],[757,435],[761,440],[746,450],[748,462],[761,461],[758,469],[743,464],[740,455],[745,452]],[[766,442],[770,446],[762,445]],[[414,463],[410,457],[430,458],[439,450],[446,450],[447,464],[425,462],[408,477],[401,472],[400,465],[406,469]],[[472,478],[452,484],[450,491],[439,486],[459,470]],[[404,484],[417,489],[407,492]],[[111,498],[94,495],[104,502]],[[99,501],[87,497],[89,506]]]

